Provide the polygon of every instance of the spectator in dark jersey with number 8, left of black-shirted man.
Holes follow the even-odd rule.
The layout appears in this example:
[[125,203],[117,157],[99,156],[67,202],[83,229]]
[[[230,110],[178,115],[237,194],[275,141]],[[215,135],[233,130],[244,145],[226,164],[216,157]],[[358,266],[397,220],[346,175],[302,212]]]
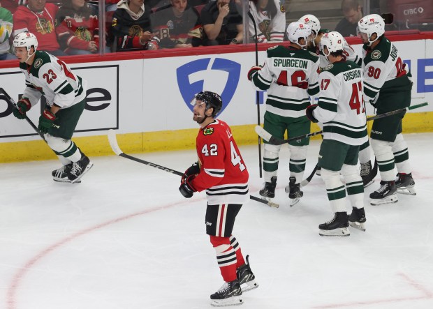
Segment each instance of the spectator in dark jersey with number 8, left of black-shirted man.
[[179,48],[202,45],[203,29],[196,8],[186,0],[170,0],[170,6],[156,10],[150,20],[158,32],[159,47]]

